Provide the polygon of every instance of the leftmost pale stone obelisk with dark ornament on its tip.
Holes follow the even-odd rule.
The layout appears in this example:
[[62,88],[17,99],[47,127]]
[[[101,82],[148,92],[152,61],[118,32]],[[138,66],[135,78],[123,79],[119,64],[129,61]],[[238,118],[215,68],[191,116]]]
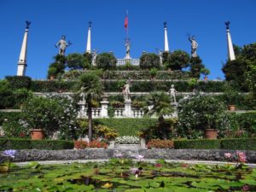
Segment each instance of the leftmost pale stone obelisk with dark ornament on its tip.
[[26,30],[20,50],[20,59],[18,61],[18,69],[17,69],[17,76],[26,76],[26,49],[27,49],[27,35],[28,35],[28,28],[31,22],[26,20]]

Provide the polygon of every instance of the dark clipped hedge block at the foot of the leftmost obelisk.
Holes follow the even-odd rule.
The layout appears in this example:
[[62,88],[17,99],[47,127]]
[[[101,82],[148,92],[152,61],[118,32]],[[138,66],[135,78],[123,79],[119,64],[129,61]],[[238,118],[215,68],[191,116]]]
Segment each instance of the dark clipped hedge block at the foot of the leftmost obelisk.
[[11,89],[29,89],[31,86],[32,79],[26,76],[6,76],[5,79],[8,80]]

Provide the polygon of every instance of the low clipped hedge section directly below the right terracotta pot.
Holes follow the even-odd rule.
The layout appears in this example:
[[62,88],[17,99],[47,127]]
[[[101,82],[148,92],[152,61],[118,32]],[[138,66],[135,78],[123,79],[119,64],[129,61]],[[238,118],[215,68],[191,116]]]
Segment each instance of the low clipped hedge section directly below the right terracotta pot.
[[193,149],[220,149],[221,140],[211,139],[191,139],[191,140],[175,140],[174,148],[193,148]]

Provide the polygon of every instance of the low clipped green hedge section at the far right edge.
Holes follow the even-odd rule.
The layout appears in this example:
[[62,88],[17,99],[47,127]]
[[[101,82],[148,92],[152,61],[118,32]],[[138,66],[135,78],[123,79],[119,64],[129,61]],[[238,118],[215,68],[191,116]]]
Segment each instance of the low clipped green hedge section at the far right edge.
[[256,150],[256,138],[222,139],[221,148],[232,150]]

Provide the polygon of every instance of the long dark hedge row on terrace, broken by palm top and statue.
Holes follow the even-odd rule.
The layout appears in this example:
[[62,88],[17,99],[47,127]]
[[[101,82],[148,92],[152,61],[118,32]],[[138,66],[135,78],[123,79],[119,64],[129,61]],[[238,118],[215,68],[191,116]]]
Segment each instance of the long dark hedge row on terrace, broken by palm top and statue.
[[[76,81],[32,81],[31,90],[35,92],[58,92],[72,91]],[[102,80],[104,91],[121,92],[125,80],[104,81]],[[167,91],[171,85],[179,92],[190,92],[194,89],[189,81],[132,81],[131,92],[150,92],[153,90]],[[222,92],[224,91],[224,81],[199,81],[196,85],[197,90],[204,92]]]

